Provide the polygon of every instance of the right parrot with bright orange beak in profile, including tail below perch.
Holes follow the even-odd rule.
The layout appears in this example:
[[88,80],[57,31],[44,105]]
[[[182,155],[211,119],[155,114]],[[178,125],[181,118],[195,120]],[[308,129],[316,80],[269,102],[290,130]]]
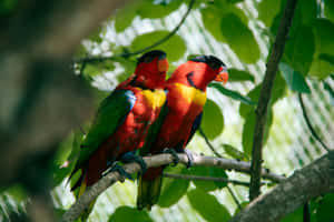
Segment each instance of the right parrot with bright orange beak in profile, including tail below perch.
[[[199,128],[203,107],[206,102],[206,88],[213,81],[226,83],[226,65],[216,57],[199,56],[180,64],[166,82],[167,99],[160,117],[155,123],[157,133],[147,138],[140,151],[145,154],[161,153],[164,149],[184,152]],[[150,168],[138,178],[137,208],[157,203],[161,189],[164,167]]]

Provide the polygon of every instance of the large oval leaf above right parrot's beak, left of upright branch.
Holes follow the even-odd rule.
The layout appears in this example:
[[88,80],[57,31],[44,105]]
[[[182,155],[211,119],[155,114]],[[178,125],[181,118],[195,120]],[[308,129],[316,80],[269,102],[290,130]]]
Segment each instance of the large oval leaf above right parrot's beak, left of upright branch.
[[259,48],[253,32],[239,17],[228,13],[220,21],[220,30],[228,46],[246,63],[255,63],[259,59]]

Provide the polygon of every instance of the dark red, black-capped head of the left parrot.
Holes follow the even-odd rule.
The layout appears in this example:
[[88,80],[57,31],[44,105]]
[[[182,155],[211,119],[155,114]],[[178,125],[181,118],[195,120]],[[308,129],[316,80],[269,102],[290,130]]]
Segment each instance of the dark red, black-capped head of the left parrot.
[[153,50],[143,54],[135,70],[136,84],[148,89],[163,89],[168,70],[166,53]]

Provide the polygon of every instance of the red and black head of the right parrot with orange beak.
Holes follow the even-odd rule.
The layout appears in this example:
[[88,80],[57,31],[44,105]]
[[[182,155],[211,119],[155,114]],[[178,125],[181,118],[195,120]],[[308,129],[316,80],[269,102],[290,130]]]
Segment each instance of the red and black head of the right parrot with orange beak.
[[198,56],[180,64],[168,81],[180,82],[205,91],[207,84],[213,80],[224,84],[227,82],[226,65],[214,56]]

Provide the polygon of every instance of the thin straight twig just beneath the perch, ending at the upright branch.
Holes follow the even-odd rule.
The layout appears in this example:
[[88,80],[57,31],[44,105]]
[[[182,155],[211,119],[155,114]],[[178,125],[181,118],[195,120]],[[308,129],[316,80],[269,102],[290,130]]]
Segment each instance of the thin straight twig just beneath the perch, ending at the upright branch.
[[165,178],[174,178],[181,180],[190,180],[190,181],[215,181],[215,182],[224,182],[224,183],[233,183],[235,185],[244,185],[249,186],[249,182],[230,180],[227,178],[214,178],[214,176],[204,176],[204,175],[189,175],[189,174],[176,174],[176,173],[164,173]]

